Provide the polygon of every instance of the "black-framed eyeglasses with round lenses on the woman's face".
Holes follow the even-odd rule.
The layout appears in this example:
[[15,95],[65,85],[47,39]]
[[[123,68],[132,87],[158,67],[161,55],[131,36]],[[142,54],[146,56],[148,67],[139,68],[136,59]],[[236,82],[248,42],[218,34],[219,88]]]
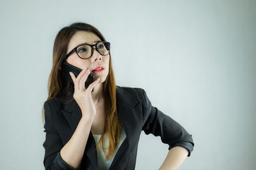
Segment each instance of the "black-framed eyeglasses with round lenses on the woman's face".
[[76,46],[66,55],[65,59],[67,59],[67,57],[71,55],[73,52],[76,52],[78,57],[80,57],[81,59],[88,59],[92,57],[93,46],[95,46],[95,50],[97,50],[97,52],[99,52],[101,55],[108,55],[110,43],[108,41],[99,41],[95,45],[83,43],[79,46]]

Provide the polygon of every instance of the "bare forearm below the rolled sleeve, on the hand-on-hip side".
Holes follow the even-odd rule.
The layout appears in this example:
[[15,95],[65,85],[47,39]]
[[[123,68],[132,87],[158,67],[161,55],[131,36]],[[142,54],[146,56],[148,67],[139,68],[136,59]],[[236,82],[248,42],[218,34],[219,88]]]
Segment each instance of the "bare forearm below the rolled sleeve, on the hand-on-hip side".
[[182,146],[175,146],[169,150],[166,159],[159,170],[177,170],[188,156],[188,150]]

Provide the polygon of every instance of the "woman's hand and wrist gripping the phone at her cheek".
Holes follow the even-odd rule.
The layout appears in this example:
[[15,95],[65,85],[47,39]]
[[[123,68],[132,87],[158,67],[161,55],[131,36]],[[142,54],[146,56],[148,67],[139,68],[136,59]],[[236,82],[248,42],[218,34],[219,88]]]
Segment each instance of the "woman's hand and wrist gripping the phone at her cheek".
[[92,100],[92,89],[99,83],[100,78],[93,81],[87,89],[84,87],[84,83],[90,74],[90,69],[86,68],[81,71],[77,78],[74,73],[70,72],[70,76],[74,82],[74,99],[76,100],[77,104],[79,105],[83,117],[90,117],[93,118],[96,115],[95,105]]

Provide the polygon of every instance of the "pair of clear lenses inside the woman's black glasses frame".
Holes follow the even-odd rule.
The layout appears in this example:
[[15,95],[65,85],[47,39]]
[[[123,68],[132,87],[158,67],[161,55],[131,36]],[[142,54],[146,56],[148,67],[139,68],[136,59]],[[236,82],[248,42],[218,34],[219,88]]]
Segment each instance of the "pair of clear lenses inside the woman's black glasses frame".
[[[87,59],[92,54],[90,45],[81,45],[77,47],[77,54],[83,58]],[[108,42],[99,42],[97,44],[97,49],[101,55],[108,55],[109,53],[109,43]]]

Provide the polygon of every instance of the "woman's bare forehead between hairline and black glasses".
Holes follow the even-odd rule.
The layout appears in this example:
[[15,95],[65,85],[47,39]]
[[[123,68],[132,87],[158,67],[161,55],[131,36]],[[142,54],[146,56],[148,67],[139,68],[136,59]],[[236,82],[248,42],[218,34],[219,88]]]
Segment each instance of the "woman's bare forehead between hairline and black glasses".
[[72,50],[81,43],[94,44],[94,41],[99,41],[100,38],[93,32],[77,31],[68,43],[68,50]]

